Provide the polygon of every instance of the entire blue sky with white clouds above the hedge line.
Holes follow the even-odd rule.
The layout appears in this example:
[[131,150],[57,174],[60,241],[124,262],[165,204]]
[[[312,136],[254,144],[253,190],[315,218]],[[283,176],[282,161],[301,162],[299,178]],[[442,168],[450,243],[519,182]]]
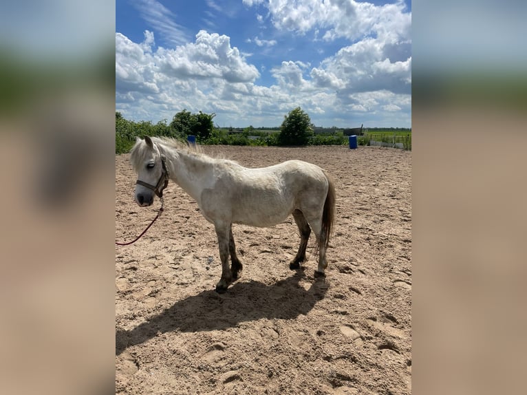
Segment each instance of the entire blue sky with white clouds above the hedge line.
[[116,0],[116,111],[221,127],[411,127],[411,3]]

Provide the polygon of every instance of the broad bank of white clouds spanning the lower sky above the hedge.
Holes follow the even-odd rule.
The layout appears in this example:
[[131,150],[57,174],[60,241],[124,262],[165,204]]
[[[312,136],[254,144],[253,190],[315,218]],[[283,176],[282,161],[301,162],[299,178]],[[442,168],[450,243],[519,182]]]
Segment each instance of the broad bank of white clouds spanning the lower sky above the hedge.
[[142,43],[116,33],[116,109],[129,119],[157,122],[188,109],[214,112],[220,126],[272,126],[301,106],[316,125],[411,125],[411,58],[391,60],[376,39],[316,67],[283,61],[270,69],[275,83],[268,86],[257,85],[257,68],[228,36],[202,30],[175,49],[154,42],[149,31]]

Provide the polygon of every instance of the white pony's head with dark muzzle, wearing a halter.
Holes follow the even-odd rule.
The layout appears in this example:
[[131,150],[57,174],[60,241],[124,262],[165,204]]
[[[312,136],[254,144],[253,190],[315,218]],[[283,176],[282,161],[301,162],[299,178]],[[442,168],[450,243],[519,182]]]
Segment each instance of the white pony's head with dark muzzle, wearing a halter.
[[146,207],[153,203],[154,193],[159,197],[169,182],[165,158],[149,136],[136,139],[130,156],[133,168],[138,173],[136,181],[136,203]]

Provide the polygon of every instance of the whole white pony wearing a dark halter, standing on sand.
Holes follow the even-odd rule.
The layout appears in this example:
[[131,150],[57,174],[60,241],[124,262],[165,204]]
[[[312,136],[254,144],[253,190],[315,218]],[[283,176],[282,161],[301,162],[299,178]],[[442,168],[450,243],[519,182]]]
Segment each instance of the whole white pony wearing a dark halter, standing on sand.
[[[334,221],[335,189],[325,171],[315,164],[288,160],[261,169],[248,169],[232,160],[215,159],[169,138],[137,138],[131,164],[138,173],[135,199],[150,206],[154,193],[173,180],[200,206],[215,226],[222,261],[216,291],[225,292],[242,268],[236,255],[232,224],[272,226],[292,213],[300,231],[300,246],[290,269],[300,268],[311,230],[319,248],[316,276],[325,276],[325,251]],[[232,261],[229,267],[228,257]]]

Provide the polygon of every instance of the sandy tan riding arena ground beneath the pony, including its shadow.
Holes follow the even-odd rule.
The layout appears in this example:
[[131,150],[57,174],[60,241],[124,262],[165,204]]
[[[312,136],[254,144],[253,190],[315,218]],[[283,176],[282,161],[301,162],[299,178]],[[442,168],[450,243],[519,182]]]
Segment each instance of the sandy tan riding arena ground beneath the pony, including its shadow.
[[[325,279],[289,270],[299,233],[233,226],[241,277],[225,294],[212,224],[171,182],[142,239],[116,246],[117,394],[410,394],[411,153],[380,147],[204,147],[246,167],[288,159],[334,178],[336,222]],[[133,201],[116,157],[116,239],[160,202]]]

